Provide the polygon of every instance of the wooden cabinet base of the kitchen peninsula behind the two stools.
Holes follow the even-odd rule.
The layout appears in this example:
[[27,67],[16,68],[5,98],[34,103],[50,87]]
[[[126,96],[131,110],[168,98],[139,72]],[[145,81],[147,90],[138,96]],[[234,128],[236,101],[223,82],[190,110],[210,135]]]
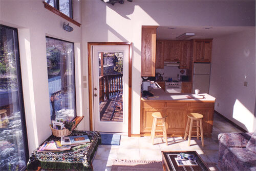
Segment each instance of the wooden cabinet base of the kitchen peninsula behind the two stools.
[[166,128],[167,134],[176,136],[184,136],[187,114],[190,112],[197,112],[204,116],[203,118],[203,131],[204,135],[211,135],[213,115],[214,115],[214,103],[202,103],[202,102],[145,102],[141,101],[141,113],[140,113],[140,133],[149,135],[153,124],[153,112],[162,112],[167,115]]

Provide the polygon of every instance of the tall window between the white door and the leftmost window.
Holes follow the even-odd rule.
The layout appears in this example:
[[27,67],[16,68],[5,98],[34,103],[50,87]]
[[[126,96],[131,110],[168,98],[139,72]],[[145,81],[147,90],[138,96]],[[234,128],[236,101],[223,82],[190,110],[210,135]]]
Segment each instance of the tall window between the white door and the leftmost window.
[[51,120],[76,117],[74,43],[46,37]]

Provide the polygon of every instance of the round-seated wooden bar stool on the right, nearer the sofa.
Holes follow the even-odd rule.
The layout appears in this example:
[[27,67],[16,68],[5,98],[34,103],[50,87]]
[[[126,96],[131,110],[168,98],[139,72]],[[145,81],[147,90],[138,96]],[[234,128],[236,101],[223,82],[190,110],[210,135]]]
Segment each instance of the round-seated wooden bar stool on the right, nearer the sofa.
[[[201,141],[202,141],[202,146],[204,146],[204,134],[203,134],[203,125],[202,125],[202,119],[204,118],[203,115],[199,114],[199,113],[189,113],[187,114],[187,126],[186,126],[186,131],[185,131],[185,135],[184,135],[184,139],[187,139],[187,135],[188,135],[188,146],[190,146],[190,140],[191,137],[197,137],[197,139],[199,139],[199,137],[201,137]],[[196,126],[193,126],[194,121],[196,121]],[[189,125],[189,132],[188,132],[188,125]],[[192,128],[197,128],[196,131],[192,131]],[[199,133],[199,128],[201,133]],[[197,135],[192,135],[192,132],[197,132]]]

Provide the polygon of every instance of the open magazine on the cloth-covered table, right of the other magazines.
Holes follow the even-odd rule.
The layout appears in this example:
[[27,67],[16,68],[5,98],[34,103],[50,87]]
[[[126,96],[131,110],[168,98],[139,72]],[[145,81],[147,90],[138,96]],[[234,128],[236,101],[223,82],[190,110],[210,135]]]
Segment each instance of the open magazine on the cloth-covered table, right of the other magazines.
[[77,145],[91,142],[88,135],[61,137],[61,145]]

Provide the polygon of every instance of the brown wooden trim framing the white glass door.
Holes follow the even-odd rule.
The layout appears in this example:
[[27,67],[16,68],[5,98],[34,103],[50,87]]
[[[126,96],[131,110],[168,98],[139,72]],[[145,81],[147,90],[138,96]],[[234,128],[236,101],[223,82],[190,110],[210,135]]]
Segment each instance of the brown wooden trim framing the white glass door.
[[129,100],[128,100],[128,136],[132,135],[132,42],[88,42],[88,83],[89,83],[89,110],[90,130],[93,130],[92,104],[92,46],[93,45],[129,45]]

